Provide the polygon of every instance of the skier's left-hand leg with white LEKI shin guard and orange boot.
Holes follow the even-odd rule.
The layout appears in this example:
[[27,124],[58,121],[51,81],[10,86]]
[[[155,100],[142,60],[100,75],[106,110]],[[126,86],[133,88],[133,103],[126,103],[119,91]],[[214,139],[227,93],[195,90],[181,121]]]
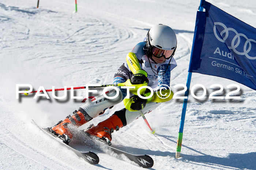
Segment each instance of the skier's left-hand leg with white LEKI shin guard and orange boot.
[[[124,64],[118,69],[114,76],[114,84],[125,82],[129,76],[131,76],[129,70],[124,66]],[[68,128],[69,125],[75,125],[76,127],[82,126],[84,123],[89,122],[91,119],[103,114],[107,108],[113,107],[115,104],[121,102],[126,96],[126,89],[119,89],[119,95],[115,99],[107,99],[105,96],[101,95],[94,97],[91,101],[86,100],[86,103],[80,106],[78,111],[74,112],[73,116],[67,116],[63,121],[58,122],[54,127],[47,128],[48,131],[62,136],[65,143],[70,141],[72,138],[72,130]],[[115,96],[116,90],[110,90],[106,95]]]

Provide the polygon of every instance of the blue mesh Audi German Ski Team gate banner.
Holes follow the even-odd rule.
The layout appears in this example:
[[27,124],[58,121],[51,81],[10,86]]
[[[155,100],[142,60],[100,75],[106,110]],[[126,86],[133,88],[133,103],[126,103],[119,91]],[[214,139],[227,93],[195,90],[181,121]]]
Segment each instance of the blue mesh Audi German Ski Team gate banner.
[[256,90],[256,28],[204,2],[197,12],[189,72],[218,76]]

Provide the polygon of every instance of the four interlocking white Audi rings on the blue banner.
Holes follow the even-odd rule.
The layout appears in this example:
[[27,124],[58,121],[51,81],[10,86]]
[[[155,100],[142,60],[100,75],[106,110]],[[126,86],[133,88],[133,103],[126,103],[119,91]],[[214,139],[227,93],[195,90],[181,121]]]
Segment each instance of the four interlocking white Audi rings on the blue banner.
[[[225,33],[225,36],[223,37],[219,37],[217,35],[217,30],[216,30],[216,25],[221,25],[224,30],[220,32],[220,35],[222,36],[224,33]],[[227,39],[227,37],[229,36],[229,31],[233,31],[234,33],[236,33],[236,35],[233,37],[233,40],[231,41],[231,46],[228,46],[229,49],[232,49],[236,54],[238,55],[245,55],[248,59],[256,59],[256,56],[255,57],[252,57],[252,56],[249,56],[248,53],[251,51],[252,49],[252,43],[251,42],[254,42],[256,43],[255,40],[253,39],[248,39],[246,37],[246,35],[242,34],[242,33],[238,33],[234,28],[227,28],[226,25],[224,25],[223,23],[219,23],[219,22],[215,22],[214,23],[214,28],[213,28],[213,31],[214,31],[214,35],[215,37],[221,41],[221,42],[225,42],[225,40]],[[244,44],[244,52],[239,52],[236,50],[236,48],[240,45],[240,36],[242,37],[245,37],[246,41],[245,41],[245,44]],[[246,47],[248,46],[249,44],[249,47],[248,49],[246,50]]]

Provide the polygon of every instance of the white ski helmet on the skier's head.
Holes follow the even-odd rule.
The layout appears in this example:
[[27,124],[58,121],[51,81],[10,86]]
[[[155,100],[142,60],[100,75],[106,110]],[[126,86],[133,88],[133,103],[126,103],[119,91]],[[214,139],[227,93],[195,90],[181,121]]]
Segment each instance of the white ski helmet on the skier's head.
[[167,25],[155,25],[147,33],[147,56],[151,58],[153,47],[157,47],[161,50],[174,50],[171,57],[177,47],[176,34],[172,28]]

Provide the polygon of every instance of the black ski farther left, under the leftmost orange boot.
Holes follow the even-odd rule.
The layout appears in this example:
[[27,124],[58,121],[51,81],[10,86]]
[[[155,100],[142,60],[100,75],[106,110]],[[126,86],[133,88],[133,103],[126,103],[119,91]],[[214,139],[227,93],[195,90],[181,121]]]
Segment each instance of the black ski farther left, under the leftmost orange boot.
[[48,131],[44,130],[42,127],[40,127],[37,123],[35,123],[34,120],[32,120],[32,123],[35,124],[39,129],[41,129],[44,133],[48,134],[49,136],[53,137],[54,139],[57,139],[63,146],[67,147],[69,150],[72,150],[76,155],[83,158],[86,162],[95,165],[99,163],[99,157],[97,154],[89,151],[89,152],[81,152],[79,150],[76,150],[67,144],[65,144],[61,139],[57,138],[56,135],[50,134]]

